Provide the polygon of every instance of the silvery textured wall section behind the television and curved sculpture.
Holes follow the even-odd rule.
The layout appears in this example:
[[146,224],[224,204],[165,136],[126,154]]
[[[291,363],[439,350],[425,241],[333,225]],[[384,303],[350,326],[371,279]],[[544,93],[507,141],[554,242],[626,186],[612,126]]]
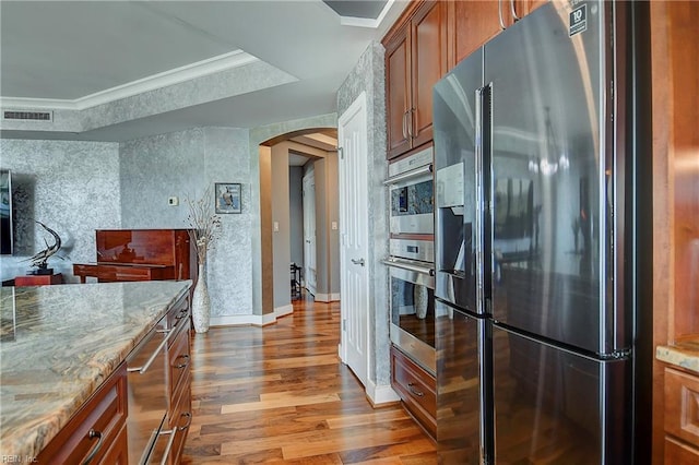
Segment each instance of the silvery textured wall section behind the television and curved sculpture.
[[3,139],[0,167],[12,170],[16,218],[15,253],[0,258],[2,279],[25,274],[27,259],[45,240],[54,243],[35,220],[61,237],[63,260],[51,258],[49,266],[69,279],[73,262],[95,260],[95,229],[121,224],[117,143]]

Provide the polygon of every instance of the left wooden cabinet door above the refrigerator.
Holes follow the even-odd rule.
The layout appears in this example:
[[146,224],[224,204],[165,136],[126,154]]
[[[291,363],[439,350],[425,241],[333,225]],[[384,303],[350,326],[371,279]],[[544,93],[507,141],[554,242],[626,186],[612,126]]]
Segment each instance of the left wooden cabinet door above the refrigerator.
[[[455,67],[476,48],[495,37],[502,31],[500,14],[506,26],[512,23],[509,0],[499,1],[454,1],[450,3],[449,32],[453,40],[453,56],[449,68]],[[452,61],[453,60],[453,61]]]

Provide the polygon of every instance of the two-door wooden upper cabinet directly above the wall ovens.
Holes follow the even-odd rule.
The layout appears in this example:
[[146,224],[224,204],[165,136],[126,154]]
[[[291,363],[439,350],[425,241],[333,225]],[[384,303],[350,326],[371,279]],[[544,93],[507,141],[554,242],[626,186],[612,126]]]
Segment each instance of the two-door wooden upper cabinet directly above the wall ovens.
[[388,157],[433,140],[433,86],[447,72],[447,7],[415,2],[383,39]]

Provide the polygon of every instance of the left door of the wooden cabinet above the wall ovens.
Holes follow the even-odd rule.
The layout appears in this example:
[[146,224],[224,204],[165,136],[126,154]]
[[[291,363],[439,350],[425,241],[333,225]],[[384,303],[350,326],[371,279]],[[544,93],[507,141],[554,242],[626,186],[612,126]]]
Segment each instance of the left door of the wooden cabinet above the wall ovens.
[[410,96],[410,28],[403,27],[386,45],[386,118],[388,158],[411,148],[407,134]]

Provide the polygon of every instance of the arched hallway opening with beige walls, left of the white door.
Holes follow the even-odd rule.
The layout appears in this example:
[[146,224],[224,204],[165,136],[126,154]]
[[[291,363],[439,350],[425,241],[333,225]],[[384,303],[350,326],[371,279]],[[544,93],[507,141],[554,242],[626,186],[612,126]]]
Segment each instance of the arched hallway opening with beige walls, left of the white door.
[[310,277],[308,273],[316,277],[316,300],[340,298],[336,143],[335,128],[307,128],[259,144],[263,323],[293,310],[289,263],[299,261],[298,248],[303,248],[308,238],[299,238],[293,228],[299,219],[303,222],[298,212],[303,212],[304,206],[293,205],[292,200],[303,199],[293,195],[303,189],[295,180],[303,179],[309,171],[313,171],[316,178],[312,216],[317,219],[317,260],[316,266],[306,267],[304,275],[306,279]]

